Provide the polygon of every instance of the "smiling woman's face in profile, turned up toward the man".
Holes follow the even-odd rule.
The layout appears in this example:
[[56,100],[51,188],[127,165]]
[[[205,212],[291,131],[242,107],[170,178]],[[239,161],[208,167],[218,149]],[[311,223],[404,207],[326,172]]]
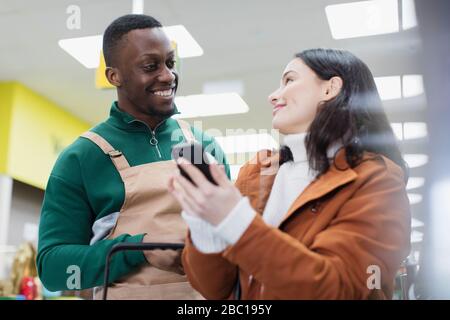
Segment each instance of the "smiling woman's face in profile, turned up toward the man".
[[327,100],[329,80],[320,79],[300,58],[286,66],[280,87],[269,96],[272,126],[282,134],[306,132],[321,101]]

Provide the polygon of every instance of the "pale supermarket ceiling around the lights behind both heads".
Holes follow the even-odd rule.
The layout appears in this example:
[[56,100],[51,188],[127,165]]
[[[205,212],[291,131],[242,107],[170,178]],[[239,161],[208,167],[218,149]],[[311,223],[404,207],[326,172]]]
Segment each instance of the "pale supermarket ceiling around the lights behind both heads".
[[[277,87],[285,64],[300,50],[348,49],[376,77],[420,73],[417,28],[334,40],[325,7],[343,2],[349,1],[147,0],[144,13],[167,26],[184,25],[204,51],[202,56],[181,61],[178,95],[201,94],[211,81],[241,83],[249,112],[203,118],[204,128],[270,128],[267,95]],[[81,10],[79,30],[66,27],[70,5]],[[115,99],[114,90],[96,89],[95,69],[83,67],[58,41],[101,34],[114,18],[131,11],[132,0],[0,0],[0,81],[20,81],[92,124],[101,121]],[[420,112],[402,112],[411,105],[423,109],[423,99],[412,100],[386,102],[391,119],[420,120],[416,119]]]

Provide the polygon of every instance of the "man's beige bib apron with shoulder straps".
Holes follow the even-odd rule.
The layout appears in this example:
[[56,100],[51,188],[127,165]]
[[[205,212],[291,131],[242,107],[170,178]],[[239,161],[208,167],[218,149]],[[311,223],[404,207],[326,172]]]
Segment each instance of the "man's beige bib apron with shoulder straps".
[[[185,139],[194,141],[189,124],[177,121]],[[177,170],[175,161],[130,167],[125,156],[98,134],[86,132],[82,136],[111,157],[125,187],[125,201],[107,238],[147,233],[146,242],[184,243],[187,226],[181,217],[182,209],[167,190],[169,177]],[[148,253],[149,264],[111,284],[108,299],[204,299],[184,275],[181,250]],[[95,299],[100,299],[102,291],[95,291]]]

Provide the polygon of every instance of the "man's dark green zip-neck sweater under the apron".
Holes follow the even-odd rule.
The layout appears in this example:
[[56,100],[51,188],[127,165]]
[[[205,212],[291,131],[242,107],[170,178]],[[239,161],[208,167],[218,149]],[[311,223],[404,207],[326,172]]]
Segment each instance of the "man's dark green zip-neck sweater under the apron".
[[[145,123],[121,111],[114,102],[110,117],[91,131],[122,151],[130,166],[137,166],[170,160],[172,146],[184,140],[181,136],[177,141],[171,141],[172,132],[177,129],[177,121],[169,118],[152,132]],[[196,140],[201,141],[219,163],[225,164],[230,176],[223,151],[215,140],[194,127],[191,130]],[[150,144],[153,135],[158,140],[158,147]],[[120,175],[109,156],[97,145],[80,137],[63,150],[48,180],[39,225],[36,263],[39,277],[47,289],[74,289],[76,280],[73,276],[77,270],[81,276],[77,289],[101,285],[105,257],[111,247],[119,242],[142,242],[144,234],[123,234],[89,245],[94,222],[120,211],[124,199]],[[140,251],[115,254],[111,260],[110,281],[144,263],[147,261]]]

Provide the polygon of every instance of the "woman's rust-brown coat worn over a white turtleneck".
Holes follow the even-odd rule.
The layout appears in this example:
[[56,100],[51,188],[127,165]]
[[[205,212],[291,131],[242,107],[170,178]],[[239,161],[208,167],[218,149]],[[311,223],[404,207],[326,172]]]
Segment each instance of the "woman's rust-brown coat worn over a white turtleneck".
[[242,299],[390,299],[410,250],[401,168],[367,152],[349,168],[341,149],[274,228],[261,214],[276,163],[266,151],[241,168],[236,186],[258,214],[235,245],[203,254],[188,236],[182,259],[191,285],[208,299],[227,299],[239,275]]

